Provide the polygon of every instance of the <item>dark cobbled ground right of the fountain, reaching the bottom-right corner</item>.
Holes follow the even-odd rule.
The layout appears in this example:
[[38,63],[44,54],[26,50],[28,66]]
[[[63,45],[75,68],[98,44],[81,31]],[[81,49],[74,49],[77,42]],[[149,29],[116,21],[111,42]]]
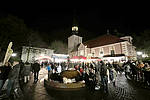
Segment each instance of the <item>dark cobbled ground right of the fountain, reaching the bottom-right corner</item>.
[[109,86],[113,100],[150,100],[150,90],[142,84],[127,80],[124,75],[118,75],[117,87]]

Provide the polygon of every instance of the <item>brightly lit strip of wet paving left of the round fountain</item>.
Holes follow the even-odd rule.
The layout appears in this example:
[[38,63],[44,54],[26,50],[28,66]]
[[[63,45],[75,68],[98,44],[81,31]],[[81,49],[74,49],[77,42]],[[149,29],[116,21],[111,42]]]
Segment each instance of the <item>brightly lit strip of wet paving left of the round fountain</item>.
[[33,83],[33,75],[31,75],[31,80],[24,87],[24,100],[53,100],[45,90],[44,78],[47,75],[46,69],[42,68],[39,72],[39,81]]

